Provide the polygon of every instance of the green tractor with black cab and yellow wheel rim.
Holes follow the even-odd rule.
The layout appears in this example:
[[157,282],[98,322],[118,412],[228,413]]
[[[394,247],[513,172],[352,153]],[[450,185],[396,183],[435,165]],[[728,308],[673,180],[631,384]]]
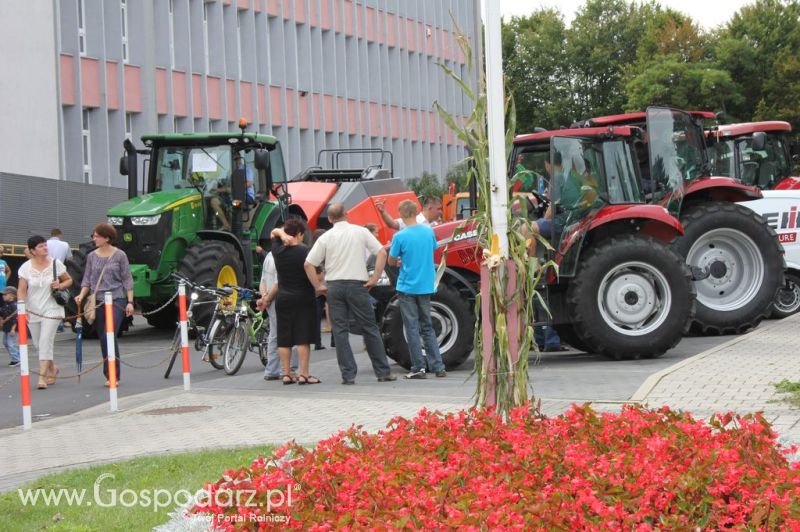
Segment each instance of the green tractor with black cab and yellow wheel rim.
[[[108,210],[108,222],[130,260],[137,304],[154,327],[175,327],[173,273],[205,286],[257,286],[256,247],[280,221],[306,218],[289,204],[278,140],[245,126],[240,133],[145,135],[144,149],[124,143],[128,200]],[[146,168],[141,195],[139,154]],[[73,279],[81,279],[90,250],[82,247],[68,264]],[[211,305],[197,305],[194,317],[204,323],[210,312]]]

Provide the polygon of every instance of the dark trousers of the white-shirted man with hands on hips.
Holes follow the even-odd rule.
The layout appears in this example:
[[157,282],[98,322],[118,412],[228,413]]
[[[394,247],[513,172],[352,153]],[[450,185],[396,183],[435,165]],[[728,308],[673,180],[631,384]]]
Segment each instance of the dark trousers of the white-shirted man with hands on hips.
[[386,358],[375,310],[369,302],[369,292],[364,281],[328,281],[328,306],[331,310],[333,338],[336,341],[336,361],[345,380],[354,380],[358,373],[353,349],[350,347],[351,320],[364,338],[367,354],[375,376],[388,377],[392,370]]

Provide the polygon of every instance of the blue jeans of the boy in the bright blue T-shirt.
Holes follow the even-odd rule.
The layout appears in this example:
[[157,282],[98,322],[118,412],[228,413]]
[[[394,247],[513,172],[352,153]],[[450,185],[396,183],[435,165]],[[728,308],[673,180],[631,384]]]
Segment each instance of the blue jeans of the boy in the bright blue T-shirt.
[[[430,365],[434,372],[444,371],[442,355],[439,353],[439,342],[431,323],[431,296],[430,294],[403,294],[398,293],[400,315],[403,317],[403,327],[406,332],[406,343],[411,355],[411,371],[420,371]],[[422,339],[425,342],[425,357],[422,355]]]

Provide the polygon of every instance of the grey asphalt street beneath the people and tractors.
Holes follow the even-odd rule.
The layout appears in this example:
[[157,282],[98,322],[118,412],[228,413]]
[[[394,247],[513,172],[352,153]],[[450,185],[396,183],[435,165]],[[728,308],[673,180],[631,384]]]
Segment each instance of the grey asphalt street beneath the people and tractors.
[[[684,338],[677,347],[663,357],[654,360],[610,361],[602,356],[587,353],[542,353],[537,360],[530,357],[530,381],[536,397],[583,401],[624,401],[633,394],[652,373],[671,366],[684,358],[712,348],[730,337]],[[164,378],[167,347],[172,332],[153,329],[137,318],[135,326],[120,339],[121,385],[119,395],[133,396],[144,392],[175,387],[180,393],[183,385],[180,359],[169,379]],[[328,335],[324,335],[329,345]],[[413,396],[446,397],[463,400],[470,404],[475,390],[475,379],[470,377],[472,359],[458,370],[449,373],[446,379],[429,378],[426,381],[403,381],[379,384],[363,353],[361,338],[352,336],[351,345],[359,363],[357,386],[342,386],[336,364],[334,349],[312,351],[311,373],[323,383],[306,390],[312,393],[348,394],[353,396],[382,395],[387,399]],[[3,350],[5,353],[5,351]],[[359,354],[360,353],[360,354]],[[16,368],[8,367],[7,361],[0,365],[0,428],[19,426],[22,423],[20,384]],[[56,365],[60,367],[58,383],[46,390],[37,390],[35,375],[31,375],[31,403],[34,422],[78,412],[88,407],[108,402],[105,378],[98,367],[84,374],[80,380],[75,374],[75,336],[69,330],[60,333],[55,348]],[[87,371],[101,360],[98,340],[84,340],[83,370]],[[35,351],[30,355],[30,367],[38,369]],[[200,359],[192,352],[191,380],[193,389],[213,388],[228,390],[263,391],[265,397],[276,393],[292,393],[295,386],[283,386],[280,381],[265,382],[263,367],[255,353],[248,354],[238,374],[227,376]],[[398,376],[403,369],[395,364],[392,370]],[[268,401],[266,402],[268,404]],[[259,405],[254,405],[259,407]]]

